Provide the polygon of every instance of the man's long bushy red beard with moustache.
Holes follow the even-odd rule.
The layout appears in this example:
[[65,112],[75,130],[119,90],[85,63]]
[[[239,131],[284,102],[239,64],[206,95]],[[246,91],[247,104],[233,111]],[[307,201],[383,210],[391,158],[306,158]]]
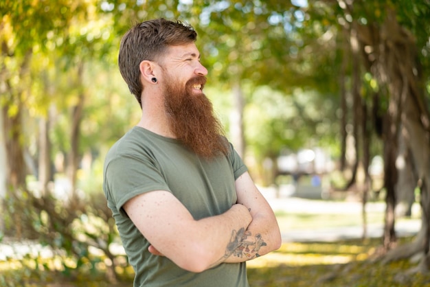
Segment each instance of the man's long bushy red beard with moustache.
[[223,126],[214,116],[212,103],[203,94],[193,94],[192,85],[206,82],[206,78],[192,78],[181,88],[180,84],[168,80],[164,95],[164,106],[170,128],[185,146],[205,158],[227,154]]

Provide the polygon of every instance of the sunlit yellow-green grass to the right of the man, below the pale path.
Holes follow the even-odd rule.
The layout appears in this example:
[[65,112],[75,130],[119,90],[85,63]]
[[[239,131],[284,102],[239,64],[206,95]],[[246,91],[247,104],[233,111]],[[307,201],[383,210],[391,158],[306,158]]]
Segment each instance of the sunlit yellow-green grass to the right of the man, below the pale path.
[[379,244],[379,239],[285,243],[249,262],[249,282],[252,287],[430,286],[429,273],[405,275],[415,266],[409,260],[385,265],[368,260]]

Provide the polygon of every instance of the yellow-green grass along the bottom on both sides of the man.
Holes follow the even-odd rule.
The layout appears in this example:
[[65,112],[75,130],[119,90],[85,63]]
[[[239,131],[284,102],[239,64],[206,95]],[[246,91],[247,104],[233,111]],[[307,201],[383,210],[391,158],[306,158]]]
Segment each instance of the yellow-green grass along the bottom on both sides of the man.
[[[411,238],[403,238],[402,242],[408,240]],[[367,260],[379,243],[380,239],[286,242],[278,251],[248,262],[249,284],[251,287],[430,286],[430,274],[403,275],[403,271],[414,266],[408,260],[386,265]],[[132,286],[133,282],[130,271],[123,273],[122,280],[113,284],[106,280],[104,268],[93,275],[65,276],[64,273],[53,271],[36,272],[25,264],[20,268],[23,262],[15,263],[15,268],[7,270],[4,262],[0,264],[0,286],[125,287]],[[13,280],[15,283],[12,283]]]

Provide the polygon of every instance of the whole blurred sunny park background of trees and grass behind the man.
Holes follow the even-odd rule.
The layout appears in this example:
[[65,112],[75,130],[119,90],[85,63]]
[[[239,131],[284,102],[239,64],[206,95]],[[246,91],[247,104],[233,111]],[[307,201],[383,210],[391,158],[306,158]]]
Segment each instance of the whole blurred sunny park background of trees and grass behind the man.
[[1,0],[0,286],[131,285],[102,167],[140,117],[121,37],[156,17],[196,28],[280,222],[251,286],[430,284],[429,0]]

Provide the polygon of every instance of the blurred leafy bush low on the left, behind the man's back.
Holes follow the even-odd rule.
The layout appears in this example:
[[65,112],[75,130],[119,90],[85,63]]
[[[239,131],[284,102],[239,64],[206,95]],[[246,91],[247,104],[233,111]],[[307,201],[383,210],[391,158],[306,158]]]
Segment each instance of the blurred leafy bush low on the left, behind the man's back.
[[[111,253],[113,244],[120,242],[104,195],[95,193],[85,198],[64,202],[22,191],[6,200],[6,230],[14,232],[8,234],[12,238],[10,246],[19,244],[19,238],[24,236],[34,239],[24,243],[30,250],[40,250],[34,254],[16,249],[15,257],[8,261],[11,266],[20,266],[22,272],[15,273],[12,282],[25,286],[39,277],[39,282],[47,283],[51,275],[38,276],[45,271],[62,273],[64,277],[95,275],[113,281],[130,272],[124,255]],[[120,273],[118,267],[122,268]]]

